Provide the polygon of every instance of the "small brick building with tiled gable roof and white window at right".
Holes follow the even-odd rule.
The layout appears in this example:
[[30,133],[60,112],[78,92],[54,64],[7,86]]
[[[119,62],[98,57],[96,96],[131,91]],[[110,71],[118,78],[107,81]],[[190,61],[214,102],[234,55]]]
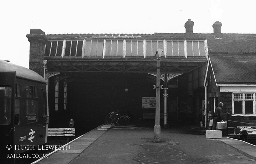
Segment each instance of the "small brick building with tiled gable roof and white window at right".
[[[255,53],[210,55],[204,86],[207,90],[208,116],[214,107],[224,103],[224,119],[228,120],[229,134],[237,126],[256,126],[256,55]],[[208,100],[207,100],[208,99]]]

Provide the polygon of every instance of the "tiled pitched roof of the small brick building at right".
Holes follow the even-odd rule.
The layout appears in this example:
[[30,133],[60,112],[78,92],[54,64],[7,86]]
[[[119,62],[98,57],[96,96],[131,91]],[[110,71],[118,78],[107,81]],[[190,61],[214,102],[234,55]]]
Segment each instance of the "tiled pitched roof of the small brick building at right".
[[256,84],[255,54],[209,54],[217,84]]

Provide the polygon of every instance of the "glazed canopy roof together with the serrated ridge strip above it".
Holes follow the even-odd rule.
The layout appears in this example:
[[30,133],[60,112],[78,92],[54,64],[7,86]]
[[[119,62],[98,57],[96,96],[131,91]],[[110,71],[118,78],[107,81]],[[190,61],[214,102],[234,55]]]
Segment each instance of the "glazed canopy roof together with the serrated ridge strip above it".
[[164,57],[205,57],[207,43],[202,36],[158,34],[50,34],[45,56],[148,57],[164,50]]

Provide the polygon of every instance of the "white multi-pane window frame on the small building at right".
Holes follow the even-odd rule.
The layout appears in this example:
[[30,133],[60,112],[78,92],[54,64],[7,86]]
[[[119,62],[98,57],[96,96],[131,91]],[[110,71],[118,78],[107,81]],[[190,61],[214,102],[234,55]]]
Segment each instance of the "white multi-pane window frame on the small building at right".
[[[241,99],[234,99],[234,95],[235,94],[243,94],[243,98]],[[253,101],[253,114],[245,114],[245,94],[253,94],[253,98],[249,99],[251,101]],[[243,114],[236,114],[234,113],[234,101],[236,100],[240,100],[243,101]],[[251,93],[251,92],[234,92],[232,93],[232,114],[236,114],[236,115],[246,115],[246,116],[255,116],[256,115],[256,93]]]

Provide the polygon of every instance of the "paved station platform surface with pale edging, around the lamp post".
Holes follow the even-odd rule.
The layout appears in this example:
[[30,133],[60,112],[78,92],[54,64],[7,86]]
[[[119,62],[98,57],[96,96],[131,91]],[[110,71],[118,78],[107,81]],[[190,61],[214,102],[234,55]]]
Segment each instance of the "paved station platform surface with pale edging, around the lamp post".
[[94,130],[68,143],[36,164],[256,163],[256,146],[222,137],[206,138],[205,129],[161,126],[161,142],[153,142],[154,123],[136,122]]

